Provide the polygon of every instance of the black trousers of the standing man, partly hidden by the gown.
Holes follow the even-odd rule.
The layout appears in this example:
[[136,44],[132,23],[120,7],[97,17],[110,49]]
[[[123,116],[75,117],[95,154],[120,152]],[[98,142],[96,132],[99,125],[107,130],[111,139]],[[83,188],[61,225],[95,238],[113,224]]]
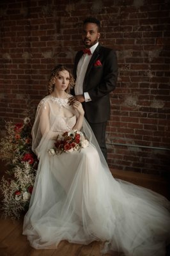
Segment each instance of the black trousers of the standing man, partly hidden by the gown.
[[104,154],[105,160],[107,161],[107,148],[105,145],[105,131],[106,131],[107,122],[97,123],[97,124],[89,122],[89,125],[93,130],[93,133],[97,138],[98,145],[100,146],[102,153]]

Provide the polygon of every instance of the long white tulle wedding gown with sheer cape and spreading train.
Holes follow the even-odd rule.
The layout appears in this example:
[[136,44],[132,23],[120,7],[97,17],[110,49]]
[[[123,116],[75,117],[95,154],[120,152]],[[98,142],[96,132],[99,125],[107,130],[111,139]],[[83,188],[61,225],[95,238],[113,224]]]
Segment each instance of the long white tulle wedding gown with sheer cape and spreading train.
[[56,248],[61,240],[79,244],[97,240],[105,241],[104,253],[165,256],[169,201],[114,179],[86,121],[82,129],[91,141],[89,147],[49,156],[52,138],[70,131],[75,122],[68,99],[48,95],[40,102],[33,125],[33,150],[40,163],[23,230],[31,246]]

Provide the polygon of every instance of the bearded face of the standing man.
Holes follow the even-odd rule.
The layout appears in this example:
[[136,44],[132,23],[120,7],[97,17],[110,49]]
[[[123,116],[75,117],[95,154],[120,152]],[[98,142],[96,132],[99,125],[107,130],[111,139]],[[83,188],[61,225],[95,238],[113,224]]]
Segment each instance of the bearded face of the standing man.
[[95,45],[100,38],[98,26],[95,23],[86,23],[82,29],[82,42],[86,48]]

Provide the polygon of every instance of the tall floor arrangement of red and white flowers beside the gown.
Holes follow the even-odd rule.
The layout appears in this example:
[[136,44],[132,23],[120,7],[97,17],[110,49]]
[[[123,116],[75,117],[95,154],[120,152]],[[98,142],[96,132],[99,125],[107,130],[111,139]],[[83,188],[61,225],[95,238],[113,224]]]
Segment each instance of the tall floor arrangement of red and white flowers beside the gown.
[[6,122],[6,136],[0,141],[1,159],[10,170],[1,179],[2,210],[5,217],[20,218],[26,212],[35,182],[38,159],[31,150],[31,118],[20,124]]

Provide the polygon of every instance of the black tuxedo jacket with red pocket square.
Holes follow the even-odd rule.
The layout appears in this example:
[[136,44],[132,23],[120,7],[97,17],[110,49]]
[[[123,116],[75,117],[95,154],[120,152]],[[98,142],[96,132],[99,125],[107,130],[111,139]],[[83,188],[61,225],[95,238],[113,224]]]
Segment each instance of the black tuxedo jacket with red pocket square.
[[[73,67],[76,79],[77,65],[83,52],[77,52]],[[100,65],[101,63],[101,65]],[[110,115],[109,93],[116,87],[118,63],[116,52],[98,44],[91,56],[83,82],[83,92],[88,92],[91,101],[83,102],[85,117],[88,122],[106,122]]]

